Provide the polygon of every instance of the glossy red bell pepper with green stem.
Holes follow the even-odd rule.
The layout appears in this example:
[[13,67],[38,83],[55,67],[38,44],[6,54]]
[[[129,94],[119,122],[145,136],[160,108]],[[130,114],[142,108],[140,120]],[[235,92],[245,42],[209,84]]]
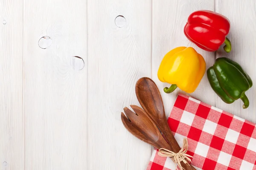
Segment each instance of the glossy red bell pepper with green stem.
[[229,31],[230,22],[226,17],[207,10],[190,14],[184,27],[186,37],[206,51],[216,51],[225,43],[224,50],[230,52],[231,43],[226,37]]

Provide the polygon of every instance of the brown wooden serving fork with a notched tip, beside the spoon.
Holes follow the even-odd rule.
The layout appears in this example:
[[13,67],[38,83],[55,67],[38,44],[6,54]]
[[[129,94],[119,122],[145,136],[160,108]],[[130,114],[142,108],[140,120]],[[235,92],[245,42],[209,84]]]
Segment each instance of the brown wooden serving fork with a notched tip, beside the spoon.
[[[124,108],[127,118],[124,113],[121,113],[122,123],[125,128],[138,139],[157,149],[166,148],[171,150],[171,146],[163,139],[157,126],[148,114],[136,105],[131,105],[131,108],[135,113],[126,107]],[[180,164],[185,170],[195,170],[195,168],[189,164],[185,164],[184,162],[180,162]]]

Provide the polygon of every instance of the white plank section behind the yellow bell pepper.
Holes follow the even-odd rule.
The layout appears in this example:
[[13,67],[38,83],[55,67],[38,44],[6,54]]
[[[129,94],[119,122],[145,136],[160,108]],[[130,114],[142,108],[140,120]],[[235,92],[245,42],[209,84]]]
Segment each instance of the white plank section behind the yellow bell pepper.
[[[172,94],[165,94],[164,87],[169,87],[168,83],[162,83],[157,78],[157,71],[164,55],[179,46],[193,47],[201,54],[209,68],[215,61],[215,53],[204,51],[190,42],[183,33],[189,14],[200,9],[214,11],[214,0],[153,0],[152,18],[152,77],[158,85],[163,97],[166,116],[172,110],[178,93],[186,94],[180,89],[176,89]],[[190,96],[197,98],[209,105],[215,105],[215,93],[212,91],[207,75],[204,74],[198,88]]]

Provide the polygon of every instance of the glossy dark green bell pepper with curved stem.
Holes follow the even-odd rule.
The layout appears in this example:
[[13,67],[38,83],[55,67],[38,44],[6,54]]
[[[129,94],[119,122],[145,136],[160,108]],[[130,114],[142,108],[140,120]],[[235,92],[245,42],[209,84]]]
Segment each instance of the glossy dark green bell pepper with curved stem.
[[249,100],[244,93],[252,87],[253,82],[237,62],[224,57],[216,59],[207,70],[207,78],[212,89],[225,103],[241,99],[243,108],[248,108]]

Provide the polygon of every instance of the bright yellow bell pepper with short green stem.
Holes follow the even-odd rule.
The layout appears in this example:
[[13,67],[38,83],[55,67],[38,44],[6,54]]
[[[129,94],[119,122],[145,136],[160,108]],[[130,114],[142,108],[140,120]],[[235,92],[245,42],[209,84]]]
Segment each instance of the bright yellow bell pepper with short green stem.
[[205,73],[204,58],[192,47],[177,47],[169,51],[159,66],[157,76],[161,82],[172,84],[164,92],[172,93],[177,87],[192,93]]

